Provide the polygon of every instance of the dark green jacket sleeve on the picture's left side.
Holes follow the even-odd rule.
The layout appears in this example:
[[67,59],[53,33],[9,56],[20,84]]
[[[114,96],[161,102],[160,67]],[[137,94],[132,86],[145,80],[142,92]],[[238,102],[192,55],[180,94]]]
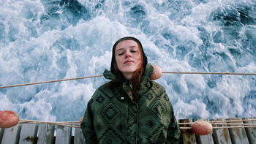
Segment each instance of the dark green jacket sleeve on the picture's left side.
[[94,115],[91,110],[91,103],[93,102],[93,99],[90,99],[86,112],[83,116],[83,121],[80,124],[83,135],[86,139],[86,144],[95,144],[97,143],[97,135],[94,129]]

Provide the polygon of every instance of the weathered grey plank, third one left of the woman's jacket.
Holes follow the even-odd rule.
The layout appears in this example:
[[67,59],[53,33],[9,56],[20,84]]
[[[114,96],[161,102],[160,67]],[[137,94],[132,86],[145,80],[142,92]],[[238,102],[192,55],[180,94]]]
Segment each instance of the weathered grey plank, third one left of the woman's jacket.
[[37,144],[51,144],[54,138],[53,124],[40,124],[38,130]]

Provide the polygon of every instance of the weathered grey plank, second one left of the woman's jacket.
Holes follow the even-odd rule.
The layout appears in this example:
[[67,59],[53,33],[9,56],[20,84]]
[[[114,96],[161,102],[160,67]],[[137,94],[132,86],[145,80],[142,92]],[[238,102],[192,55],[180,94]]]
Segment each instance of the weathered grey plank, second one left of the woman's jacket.
[[56,131],[56,144],[71,143],[71,127],[58,126]]

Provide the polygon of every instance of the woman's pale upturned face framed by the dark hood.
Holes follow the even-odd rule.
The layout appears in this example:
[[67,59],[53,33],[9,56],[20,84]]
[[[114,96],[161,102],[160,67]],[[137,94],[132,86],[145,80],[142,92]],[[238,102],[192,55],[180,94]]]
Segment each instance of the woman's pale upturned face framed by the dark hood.
[[116,45],[116,64],[123,75],[133,74],[142,64],[143,58],[137,42],[126,39]]

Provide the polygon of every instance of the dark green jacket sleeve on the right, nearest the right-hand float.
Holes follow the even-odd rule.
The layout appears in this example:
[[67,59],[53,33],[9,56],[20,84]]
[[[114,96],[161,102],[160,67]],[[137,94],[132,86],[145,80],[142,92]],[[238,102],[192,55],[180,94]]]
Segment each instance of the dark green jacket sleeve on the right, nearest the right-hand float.
[[171,104],[170,108],[170,125],[167,129],[167,143],[178,144],[180,143],[181,130],[179,129]]

